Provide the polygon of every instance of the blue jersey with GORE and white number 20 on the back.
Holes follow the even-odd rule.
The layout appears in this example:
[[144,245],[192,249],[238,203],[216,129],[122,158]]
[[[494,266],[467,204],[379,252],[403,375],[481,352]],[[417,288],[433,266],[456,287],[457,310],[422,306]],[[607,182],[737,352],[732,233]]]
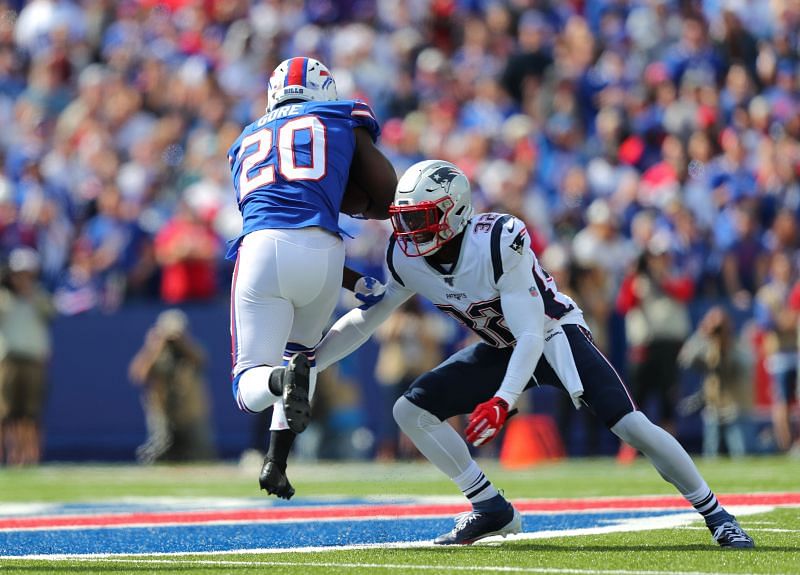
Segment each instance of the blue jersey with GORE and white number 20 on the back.
[[242,234],[319,226],[334,233],[355,150],[353,130],[380,127],[358,100],[287,103],[247,126],[228,151]]

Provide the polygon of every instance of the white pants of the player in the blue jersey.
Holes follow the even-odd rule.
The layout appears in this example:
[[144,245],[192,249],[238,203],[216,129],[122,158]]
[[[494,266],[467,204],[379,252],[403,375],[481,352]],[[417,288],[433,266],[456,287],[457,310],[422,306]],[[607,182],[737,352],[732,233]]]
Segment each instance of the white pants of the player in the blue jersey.
[[287,343],[310,349],[319,343],[339,298],[343,266],[344,243],[322,228],[259,230],[242,240],[231,286],[240,407],[258,412],[277,400],[269,393],[269,372],[281,365]]

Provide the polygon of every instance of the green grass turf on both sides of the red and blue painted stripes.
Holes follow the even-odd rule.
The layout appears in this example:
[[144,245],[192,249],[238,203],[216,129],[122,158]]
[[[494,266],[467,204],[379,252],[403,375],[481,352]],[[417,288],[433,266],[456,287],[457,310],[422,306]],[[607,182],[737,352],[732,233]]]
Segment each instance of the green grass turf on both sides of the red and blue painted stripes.
[[[800,492],[800,461],[753,458],[700,461],[721,494]],[[574,460],[523,471],[483,465],[506,496],[520,498],[673,495],[643,460]],[[0,503],[102,502],[121,497],[258,497],[257,462],[244,466],[46,465],[0,470]],[[426,463],[295,465],[298,496],[457,495]],[[742,518],[755,550],[714,546],[697,521],[688,527],[559,537],[461,548],[370,548],[313,553],[136,556],[18,560],[0,557],[0,572],[51,573],[555,573],[555,574],[800,574],[800,508]],[[2,549],[0,549],[0,556]]]

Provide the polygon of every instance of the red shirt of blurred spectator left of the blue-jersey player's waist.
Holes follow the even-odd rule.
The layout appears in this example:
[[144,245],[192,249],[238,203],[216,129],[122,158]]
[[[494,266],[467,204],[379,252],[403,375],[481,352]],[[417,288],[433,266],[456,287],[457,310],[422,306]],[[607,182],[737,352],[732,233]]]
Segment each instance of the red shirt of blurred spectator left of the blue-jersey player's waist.
[[[155,240],[156,253],[171,253],[181,244],[195,247],[216,245],[214,234],[202,224],[174,219],[165,225]],[[182,257],[165,263],[161,269],[161,297],[175,304],[188,300],[209,299],[216,294],[216,264],[213,258]]]

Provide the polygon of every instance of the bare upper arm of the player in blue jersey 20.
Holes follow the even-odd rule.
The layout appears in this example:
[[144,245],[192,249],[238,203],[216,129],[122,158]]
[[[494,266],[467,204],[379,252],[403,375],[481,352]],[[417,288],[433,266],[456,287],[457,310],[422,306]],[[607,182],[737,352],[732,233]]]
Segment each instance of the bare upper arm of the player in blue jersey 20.
[[389,218],[389,204],[397,187],[397,172],[372,141],[366,128],[356,128],[356,148],[350,166],[350,179],[370,197],[363,216],[371,220]]

